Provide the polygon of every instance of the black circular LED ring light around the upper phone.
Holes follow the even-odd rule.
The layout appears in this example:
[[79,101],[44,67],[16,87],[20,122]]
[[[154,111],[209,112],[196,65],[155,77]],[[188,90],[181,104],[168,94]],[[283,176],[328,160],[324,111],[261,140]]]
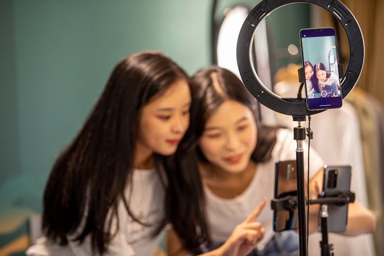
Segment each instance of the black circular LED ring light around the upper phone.
[[[251,64],[251,40],[259,23],[262,22],[262,20],[273,10],[293,3],[308,3],[323,7],[332,13],[332,15],[335,16],[336,19],[342,24],[349,40],[350,57],[348,68],[345,71],[343,80],[340,82],[340,86],[342,88],[343,98],[349,94],[355,86],[361,73],[362,63],[364,62],[364,40],[362,39],[362,33],[356,18],[350,10],[348,10],[348,8],[338,0],[263,0],[249,13],[241,28],[237,44],[238,66],[241,78],[243,79],[248,91],[263,105],[276,112],[287,115],[313,115],[324,110],[311,111],[307,109],[305,99],[296,100],[281,98],[273,94],[264,86],[259,77],[255,75]],[[257,40],[257,38],[255,39]]]

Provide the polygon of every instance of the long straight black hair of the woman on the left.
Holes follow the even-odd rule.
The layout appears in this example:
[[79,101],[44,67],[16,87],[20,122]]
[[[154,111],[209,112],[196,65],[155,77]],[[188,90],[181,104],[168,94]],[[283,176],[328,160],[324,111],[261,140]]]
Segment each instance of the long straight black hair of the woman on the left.
[[[68,236],[75,236],[74,240],[82,243],[90,235],[93,252],[102,254],[108,250],[113,231],[119,228],[117,223],[117,229],[111,230],[113,219],[117,219],[119,200],[123,200],[128,214],[141,223],[132,214],[123,194],[134,170],[140,110],[180,78],[189,81],[174,61],[159,52],[139,52],[116,65],[86,123],[53,166],[44,194],[42,216],[42,229],[49,239],[66,245]],[[173,216],[167,209],[153,235],[184,211],[190,211],[194,217],[184,222],[184,227],[200,226],[199,222],[204,220],[200,204],[169,196],[186,182],[181,196],[196,197],[194,200],[199,202],[200,176],[187,174],[185,178],[185,173],[180,173],[176,174],[178,179],[175,181],[174,168],[167,168],[172,166],[168,157],[156,154],[154,157],[155,167],[170,180],[163,184],[166,187],[165,205],[173,206]],[[184,232],[179,222],[173,225],[186,238],[186,248],[196,247],[194,243],[199,240],[196,232]]]

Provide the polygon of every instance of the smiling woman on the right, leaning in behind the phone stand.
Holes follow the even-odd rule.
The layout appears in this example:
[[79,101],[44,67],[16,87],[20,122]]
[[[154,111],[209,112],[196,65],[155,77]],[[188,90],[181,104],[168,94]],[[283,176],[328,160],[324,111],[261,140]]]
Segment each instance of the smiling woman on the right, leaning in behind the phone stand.
[[[257,124],[254,98],[230,71],[219,67],[199,71],[193,77],[191,92],[194,103],[185,135],[189,141],[179,146],[188,155],[179,159],[179,167],[201,174],[210,240],[207,247],[215,248],[263,198],[269,203],[274,197],[274,164],[295,159],[297,145],[292,132]],[[310,161],[310,188],[321,187],[324,163],[312,150]],[[312,190],[311,195],[316,195]],[[318,207],[311,206],[312,231],[317,228]],[[358,203],[350,204],[349,209],[347,233],[372,232],[372,213]],[[269,207],[259,215],[257,221],[265,228],[265,236],[252,255],[298,254],[297,233],[274,234],[272,216]],[[168,248],[172,255],[183,253],[172,229],[168,231]]]

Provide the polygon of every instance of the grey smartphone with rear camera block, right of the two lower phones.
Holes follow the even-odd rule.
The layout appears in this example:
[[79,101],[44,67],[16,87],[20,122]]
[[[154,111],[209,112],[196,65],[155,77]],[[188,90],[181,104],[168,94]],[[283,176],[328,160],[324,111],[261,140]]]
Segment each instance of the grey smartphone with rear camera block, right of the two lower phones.
[[[324,166],[323,196],[336,196],[349,192],[351,185],[351,166]],[[328,205],[328,232],[345,232],[347,229],[348,204]],[[319,221],[319,223],[321,223]],[[319,226],[321,231],[321,226]]]

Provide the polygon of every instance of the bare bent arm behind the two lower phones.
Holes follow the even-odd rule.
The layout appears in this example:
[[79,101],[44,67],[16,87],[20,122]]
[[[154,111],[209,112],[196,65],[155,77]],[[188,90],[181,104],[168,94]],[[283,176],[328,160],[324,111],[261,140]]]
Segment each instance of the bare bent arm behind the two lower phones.
[[[310,196],[313,197],[319,193],[319,188],[323,187],[324,169],[318,170],[316,175],[310,180]],[[317,231],[318,214],[320,205],[314,204],[309,206],[309,232]],[[372,233],[376,227],[376,217],[373,212],[359,204],[357,201],[350,203],[348,206],[347,230],[341,233],[345,236],[356,236],[362,233]]]

